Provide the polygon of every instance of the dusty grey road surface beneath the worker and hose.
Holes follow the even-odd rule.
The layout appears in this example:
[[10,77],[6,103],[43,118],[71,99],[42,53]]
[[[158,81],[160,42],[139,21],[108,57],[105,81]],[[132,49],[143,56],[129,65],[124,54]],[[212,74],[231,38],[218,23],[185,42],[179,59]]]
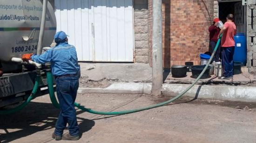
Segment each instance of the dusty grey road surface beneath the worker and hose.
[[[145,95],[83,94],[76,101],[95,110],[112,111],[163,100],[166,98]],[[249,109],[234,108],[238,105]],[[38,97],[19,113],[0,117],[0,141],[55,143],[51,134],[58,114],[47,95]],[[77,117],[82,137],[74,143],[256,143],[256,109],[249,103],[177,101],[122,116],[77,110]]]

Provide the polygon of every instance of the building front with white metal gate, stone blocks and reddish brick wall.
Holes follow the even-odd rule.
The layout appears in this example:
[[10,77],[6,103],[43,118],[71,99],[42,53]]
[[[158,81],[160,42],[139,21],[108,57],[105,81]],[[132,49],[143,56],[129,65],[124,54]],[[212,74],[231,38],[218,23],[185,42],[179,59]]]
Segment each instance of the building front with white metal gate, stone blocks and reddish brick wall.
[[[92,45],[84,46],[79,50],[80,53],[84,52],[92,55],[87,60],[81,58],[82,61],[135,62],[151,65],[152,0],[54,1],[55,7],[57,6],[57,25],[58,22],[63,23],[63,18],[66,20],[66,16],[59,15],[62,11],[67,15],[68,13],[70,15],[71,12],[71,15],[78,14],[81,17],[81,20],[67,19],[67,23],[71,21],[71,26],[73,21],[80,22],[87,19],[85,24],[81,22],[74,23],[74,27],[82,25],[82,29],[84,28],[83,25],[87,25],[88,32],[83,35],[86,39],[81,38],[81,41],[86,42],[76,45],[77,39],[70,38],[71,44],[76,45],[76,47],[92,43]],[[187,61],[194,62],[194,65],[200,64],[200,53],[209,50],[208,27],[213,23],[213,19],[219,17],[225,22],[227,13],[233,13],[236,16],[235,23],[238,32],[245,33],[247,38],[247,66],[249,72],[256,71],[256,45],[254,45],[256,40],[256,24],[254,23],[256,4],[255,0],[247,1],[248,3],[243,6],[242,0],[162,0],[164,68],[170,68],[172,65],[184,65]],[[66,9],[63,4],[61,4],[62,6],[56,4],[59,3],[60,5],[60,2],[66,2]],[[71,5],[68,5],[68,2],[71,2]],[[83,5],[83,3],[86,5]],[[94,13],[89,17],[92,9]],[[83,12],[88,13],[87,17],[83,16]],[[89,21],[90,19],[94,19],[94,21]],[[63,28],[57,26],[57,29],[62,30]],[[65,26],[64,30],[68,34],[75,35],[72,33],[74,30],[65,29]],[[77,30],[79,32],[79,28]],[[90,35],[92,38],[91,41],[88,41]],[[89,48],[85,49],[86,47]]]

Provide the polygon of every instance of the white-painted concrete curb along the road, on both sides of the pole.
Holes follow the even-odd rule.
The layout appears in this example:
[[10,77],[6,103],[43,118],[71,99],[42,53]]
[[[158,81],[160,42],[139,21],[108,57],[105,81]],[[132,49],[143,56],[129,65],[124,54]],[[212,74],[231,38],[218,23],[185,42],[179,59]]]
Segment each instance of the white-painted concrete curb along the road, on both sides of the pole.
[[[162,93],[175,97],[189,84],[163,84]],[[78,93],[151,94],[151,83],[113,83],[107,88],[79,88]],[[237,102],[256,102],[256,87],[230,85],[194,85],[183,97]]]

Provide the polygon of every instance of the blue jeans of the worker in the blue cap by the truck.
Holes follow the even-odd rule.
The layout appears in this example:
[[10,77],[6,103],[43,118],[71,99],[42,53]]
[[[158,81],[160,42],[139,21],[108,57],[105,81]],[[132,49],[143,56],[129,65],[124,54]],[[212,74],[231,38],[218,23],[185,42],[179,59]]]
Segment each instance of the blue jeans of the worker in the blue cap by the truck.
[[74,101],[79,87],[79,77],[57,77],[56,78],[56,92],[61,106],[61,112],[55,125],[55,134],[62,136],[63,130],[67,123],[69,134],[72,136],[79,136],[79,128],[76,119],[76,110],[74,108]]

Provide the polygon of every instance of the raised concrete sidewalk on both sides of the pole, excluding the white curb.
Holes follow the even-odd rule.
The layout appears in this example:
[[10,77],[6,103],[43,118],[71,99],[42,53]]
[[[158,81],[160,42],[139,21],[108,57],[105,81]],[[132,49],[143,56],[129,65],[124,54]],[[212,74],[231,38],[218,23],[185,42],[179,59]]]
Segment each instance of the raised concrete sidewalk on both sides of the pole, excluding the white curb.
[[[80,63],[81,87],[108,87],[116,82],[151,83],[152,68],[148,64],[127,63]],[[163,72],[165,84],[191,84],[195,79],[187,72],[185,78],[173,78],[170,71]],[[220,80],[215,75],[207,79],[200,79],[197,84],[252,84],[256,76],[243,71],[234,75],[232,80]]]

